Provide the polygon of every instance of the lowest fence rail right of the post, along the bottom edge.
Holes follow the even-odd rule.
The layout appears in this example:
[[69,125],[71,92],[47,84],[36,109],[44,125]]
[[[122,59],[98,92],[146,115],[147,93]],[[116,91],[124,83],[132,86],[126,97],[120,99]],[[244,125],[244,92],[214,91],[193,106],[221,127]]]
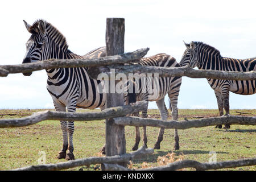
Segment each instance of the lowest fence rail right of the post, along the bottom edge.
[[200,163],[196,160],[180,160],[174,163],[167,164],[166,166],[153,167],[141,169],[141,171],[174,171],[183,168],[195,168],[196,170],[210,170],[210,169],[223,169],[234,168],[242,166],[255,166],[256,158],[239,159],[239,160],[226,160],[216,163]]

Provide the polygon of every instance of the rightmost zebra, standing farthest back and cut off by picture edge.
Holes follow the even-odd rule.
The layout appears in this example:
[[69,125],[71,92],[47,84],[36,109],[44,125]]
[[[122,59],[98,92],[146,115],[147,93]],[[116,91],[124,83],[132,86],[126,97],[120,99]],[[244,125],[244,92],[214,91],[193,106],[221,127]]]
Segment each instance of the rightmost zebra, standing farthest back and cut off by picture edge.
[[[222,57],[220,51],[203,42],[185,43],[185,46],[187,49],[180,61],[181,66],[188,65],[191,68],[197,67],[199,69],[220,71],[256,71],[256,57],[243,60]],[[255,93],[256,80],[217,80],[212,78],[207,78],[207,80],[217,98],[220,115],[224,114],[223,108],[226,114],[229,114],[229,91],[242,95]],[[221,125],[216,127],[222,128]],[[230,126],[225,125],[224,128],[229,129]]]

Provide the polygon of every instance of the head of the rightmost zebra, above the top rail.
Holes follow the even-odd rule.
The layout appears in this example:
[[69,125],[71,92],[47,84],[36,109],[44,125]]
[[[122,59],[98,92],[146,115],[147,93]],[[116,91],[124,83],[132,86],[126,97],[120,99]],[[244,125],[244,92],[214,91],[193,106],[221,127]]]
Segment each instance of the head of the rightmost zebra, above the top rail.
[[197,53],[198,49],[196,44],[194,42],[191,42],[190,44],[184,42],[184,44],[187,49],[185,49],[185,52],[181,58],[181,67],[184,67],[185,65],[188,65],[191,68],[197,67],[199,65],[199,54]]

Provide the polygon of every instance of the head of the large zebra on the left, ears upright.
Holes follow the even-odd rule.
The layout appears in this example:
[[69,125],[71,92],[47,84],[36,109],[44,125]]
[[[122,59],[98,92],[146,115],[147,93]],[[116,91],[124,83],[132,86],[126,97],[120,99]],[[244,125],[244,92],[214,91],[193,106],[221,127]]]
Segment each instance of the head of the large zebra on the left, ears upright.
[[[46,23],[44,20],[38,20],[32,26],[23,20],[27,31],[30,32],[31,37],[26,43],[26,55],[24,56],[22,63],[33,63],[47,59],[47,32]],[[24,76],[30,76],[30,73],[23,73]]]

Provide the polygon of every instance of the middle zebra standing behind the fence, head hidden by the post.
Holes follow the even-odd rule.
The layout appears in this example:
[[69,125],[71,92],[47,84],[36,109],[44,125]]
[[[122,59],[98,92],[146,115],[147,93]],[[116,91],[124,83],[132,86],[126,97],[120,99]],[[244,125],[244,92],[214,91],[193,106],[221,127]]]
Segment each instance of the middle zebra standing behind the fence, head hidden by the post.
[[[160,53],[155,56],[146,57],[141,59],[137,64],[139,65],[147,65],[147,66],[154,66],[154,67],[180,67],[180,64],[176,62],[174,57],[167,55],[165,53]],[[156,101],[156,105],[160,110],[161,119],[166,121],[168,118],[168,110],[166,105],[164,104],[164,96],[168,94],[170,98],[170,109],[172,113],[172,119],[177,120],[178,118],[178,111],[177,111],[177,98],[179,96],[180,85],[181,85],[181,77],[159,77],[154,78],[158,79],[155,83],[159,83],[158,85],[152,85],[153,88],[158,86],[159,89],[152,89],[153,92],[149,93],[148,88],[151,84],[148,82],[143,81],[143,77],[139,78],[139,82],[137,84],[137,93],[132,92],[128,93],[128,98],[130,102],[135,101]],[[146,84],[143,84],[146,83]],[[156,92],[155,92],[156,91]],[[134,115],[138,115],[135,113]],[[147,109],[142,111],[142,117],[147,118]],[[164,129],[160,128],[158,139],[155,143],[154,148],[160,149],[160,142],[163,140]],[[141,140],[139,134],[139,127],[136,127],[136,138],[135,144],[132,150],[137,150],[139,141]],[[147,147],[147,135],[146,135],[146,126],[143,127],[143,142],[144,146]],[[177,134],[177,129],[175,129],[175,150],[179,150],[179,135]]]

